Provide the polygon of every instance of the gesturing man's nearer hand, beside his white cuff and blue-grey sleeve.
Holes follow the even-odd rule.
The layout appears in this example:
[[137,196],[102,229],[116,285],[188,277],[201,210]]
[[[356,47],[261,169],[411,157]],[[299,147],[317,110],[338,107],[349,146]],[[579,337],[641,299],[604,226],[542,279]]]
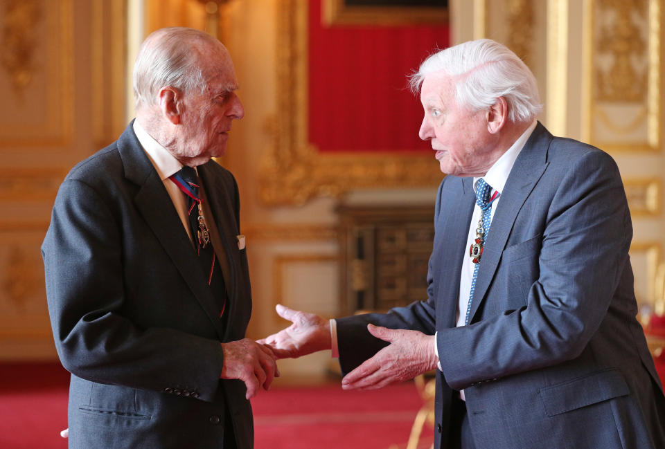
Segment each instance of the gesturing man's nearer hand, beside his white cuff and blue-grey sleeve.
[[373,324],[368,324],[367,329],[376,338],[390,342],[390,345],[344,376],[344,390],[375,390],[408,381],[436,368],[438,358],[434,354],[434,336]]

